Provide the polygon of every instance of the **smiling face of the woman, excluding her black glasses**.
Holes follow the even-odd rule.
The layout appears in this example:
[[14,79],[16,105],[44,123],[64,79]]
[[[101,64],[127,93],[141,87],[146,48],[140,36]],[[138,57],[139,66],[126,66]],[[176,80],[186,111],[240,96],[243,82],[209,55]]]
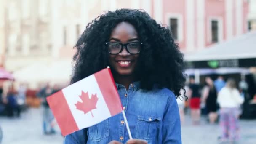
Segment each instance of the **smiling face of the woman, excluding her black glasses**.
[[[121,22],[117,24],[117,26],[113,29],[111,36],[109,38],[109,42],[117,42],[117,43],[131,43],[131,42],[139,42],[138,34],[136,29],[132,24],[128,22]],[[115,45],[115,43],[112,43]],[[131,43],[129,48],[136,48],[139,43]],[[113,46],[115,48],[115,46]],[[109,53],[109,64],[112,69],[117,72],[119,75],[133,75],[134,70],[136,69],[138,63],[138,54],[131,54],[127,51],[125,46],[123,46],[123,50],[118,54],[110,54]]]

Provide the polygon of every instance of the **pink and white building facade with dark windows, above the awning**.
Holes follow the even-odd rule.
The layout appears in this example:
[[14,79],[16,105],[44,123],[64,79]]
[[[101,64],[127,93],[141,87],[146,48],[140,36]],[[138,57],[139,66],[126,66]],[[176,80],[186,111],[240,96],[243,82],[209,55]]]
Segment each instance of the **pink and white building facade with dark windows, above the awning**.
[[[197,51],[248,31],[248,0],[104,1],[99,1],[98,11],[144,9],[164,26],[172,26],[181,51]],[[98,11],[93,8],[94,15]]]

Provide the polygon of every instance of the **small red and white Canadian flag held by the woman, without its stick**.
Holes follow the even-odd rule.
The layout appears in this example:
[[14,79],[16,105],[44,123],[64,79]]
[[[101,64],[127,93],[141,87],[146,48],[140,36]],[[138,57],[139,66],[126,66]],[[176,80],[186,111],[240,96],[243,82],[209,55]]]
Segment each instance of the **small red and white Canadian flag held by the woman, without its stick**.
[[47,97],[62,135],[100,123],[123,107],[109,68]]

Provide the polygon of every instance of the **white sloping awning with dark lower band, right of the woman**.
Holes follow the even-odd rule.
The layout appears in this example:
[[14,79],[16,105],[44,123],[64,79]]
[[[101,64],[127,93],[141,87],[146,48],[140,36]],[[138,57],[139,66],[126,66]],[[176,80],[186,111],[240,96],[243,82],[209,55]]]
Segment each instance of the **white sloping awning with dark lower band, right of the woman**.
[[256,31],[197,52],[186,53],[184,59],[189,68],[256,66]]

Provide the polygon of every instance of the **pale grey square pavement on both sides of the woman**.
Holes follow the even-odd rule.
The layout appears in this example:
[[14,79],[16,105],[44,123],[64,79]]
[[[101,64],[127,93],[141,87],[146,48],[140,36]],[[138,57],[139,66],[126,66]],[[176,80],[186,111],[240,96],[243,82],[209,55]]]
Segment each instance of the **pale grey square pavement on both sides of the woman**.
[[[42,109],[28,109],[21,118],[0,117],[3,131],[2,144],[61,144],[60,133],[43,135]],[[256,144],[256,120],[241,120],[241,139],[239,144]],[[183,144],[218,144],[219,126],[209,125],[202,118],[200,125],[192,125],[189,116],[181,127]]]

